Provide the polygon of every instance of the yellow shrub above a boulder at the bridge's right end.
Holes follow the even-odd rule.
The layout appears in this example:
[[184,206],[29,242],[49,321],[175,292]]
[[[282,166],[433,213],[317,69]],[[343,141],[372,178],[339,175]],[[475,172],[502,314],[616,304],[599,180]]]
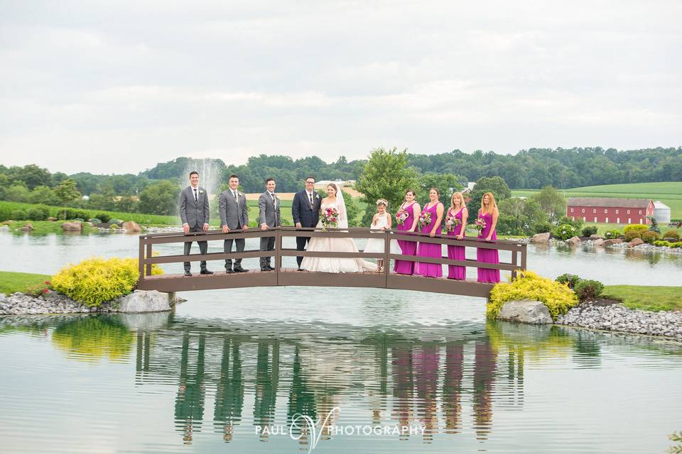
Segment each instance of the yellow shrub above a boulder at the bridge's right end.
[[514,282],[500,283],[492,288],[486,315],[490,319],[497,319],[504,303],[520,299],[543,302],[555,320],[559,314],[565,314],[568,309],[578,304],[578,297],[568,285],[540,277],[531,271],[524,271],[519,273]]

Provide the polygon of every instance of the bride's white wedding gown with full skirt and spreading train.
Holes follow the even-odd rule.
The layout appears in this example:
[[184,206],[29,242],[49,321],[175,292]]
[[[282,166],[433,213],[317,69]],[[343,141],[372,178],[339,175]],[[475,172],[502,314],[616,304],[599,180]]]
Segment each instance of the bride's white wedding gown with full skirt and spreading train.
[[[328,207],[333,206],[339,211],[340,225],[345,221],[346,214],[343,209],[335,204],[323,204],[320,208],[325,211]],[[318,221],[318,228],[322,227],[322,220]],[[310,238],[308,248],[310,252],[338,252],[338,253],[357,253],[357,245],[352,238]],[[361,258],[327,258],[327,257],[304,257],[301,262],[303,270],[315,272],[363,272],[363,271],[377,271],[377,265],[372,262],[367,262]]]

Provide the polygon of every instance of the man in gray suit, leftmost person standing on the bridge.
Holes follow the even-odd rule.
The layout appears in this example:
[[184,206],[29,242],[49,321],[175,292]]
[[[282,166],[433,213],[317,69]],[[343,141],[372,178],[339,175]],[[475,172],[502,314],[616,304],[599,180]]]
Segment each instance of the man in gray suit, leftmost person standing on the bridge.
[[[205,232],[208,230],[208,194],[206,189],[199,186],[199,172],[190,172],[190,185],[180,192],[180,219],[183,220],[185,235],[190,232]],[[208,243],[197,241],[201,255],[206,255]],[[190,255],[192,242],[185,243],[185,255]],[[191,276],[190,262],[185,265],[185,276]],[[206,269],[206,261],[201,262],[201,274],[212,275],[213,272]]]

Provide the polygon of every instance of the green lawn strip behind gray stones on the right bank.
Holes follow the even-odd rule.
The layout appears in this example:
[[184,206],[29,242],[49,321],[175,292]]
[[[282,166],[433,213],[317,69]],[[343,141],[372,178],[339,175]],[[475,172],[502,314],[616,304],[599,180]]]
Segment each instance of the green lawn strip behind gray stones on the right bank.
[[602,297],[618,299],[630,309],[682,311],[682,287],[607,285]]

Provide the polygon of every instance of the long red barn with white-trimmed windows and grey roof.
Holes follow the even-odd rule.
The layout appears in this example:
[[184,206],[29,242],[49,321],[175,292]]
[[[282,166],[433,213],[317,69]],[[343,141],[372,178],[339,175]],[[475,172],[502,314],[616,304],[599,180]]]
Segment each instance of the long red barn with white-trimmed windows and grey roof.
[[612,199],[610,197],[570,197],[566,217],[585,222],[617,224],[649,224],[646,216],[654,216],[651,199]]

